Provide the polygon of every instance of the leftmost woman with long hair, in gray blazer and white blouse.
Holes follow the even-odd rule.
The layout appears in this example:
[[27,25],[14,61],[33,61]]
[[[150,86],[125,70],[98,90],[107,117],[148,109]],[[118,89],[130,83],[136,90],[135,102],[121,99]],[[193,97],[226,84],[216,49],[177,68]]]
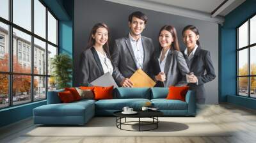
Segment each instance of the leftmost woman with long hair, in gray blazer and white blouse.
[[81,86],[88,86],[90,82],[104,73],[113,74],[115,66],[109,54],[109,29],[104,23],[93,26],[86,50],[81,54]]

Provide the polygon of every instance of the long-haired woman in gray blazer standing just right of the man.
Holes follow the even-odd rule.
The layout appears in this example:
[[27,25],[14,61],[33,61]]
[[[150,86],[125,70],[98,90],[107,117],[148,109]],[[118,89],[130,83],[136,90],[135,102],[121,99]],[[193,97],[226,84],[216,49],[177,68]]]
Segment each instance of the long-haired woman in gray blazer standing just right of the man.
[[163,26],[160,29],[159,47],[152,62],[156,86],[179,86],[180,82],[186,79],[189,69],[180,52],[175,27]]

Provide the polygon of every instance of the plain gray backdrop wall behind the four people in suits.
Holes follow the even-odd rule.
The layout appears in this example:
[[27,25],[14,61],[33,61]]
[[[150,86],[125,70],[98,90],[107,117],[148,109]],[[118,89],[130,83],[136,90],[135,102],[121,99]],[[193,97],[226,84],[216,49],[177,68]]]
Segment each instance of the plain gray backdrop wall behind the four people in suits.
[[158,47],[157,35],[159,29],[166,24],[177,29],[181,50],[184,50],[184,44],[182,43],[183,27],[192,24],[198,28],[200,44],[203,49],[211,52],[217,75],[215,80],[205,84],[208,93],[206,103],[218,103],[218,24],[103,0],[76,0],[74,3],[74,86],[78,86],[79,57],[86,47],[93,25],[97,22],[106,23],[110,29],[111,43],[113,43],[116,38],[129,33],[129,14],[133,11],[142,11],[148,17],[148,23],[142,35],[152,38],[155,47]]

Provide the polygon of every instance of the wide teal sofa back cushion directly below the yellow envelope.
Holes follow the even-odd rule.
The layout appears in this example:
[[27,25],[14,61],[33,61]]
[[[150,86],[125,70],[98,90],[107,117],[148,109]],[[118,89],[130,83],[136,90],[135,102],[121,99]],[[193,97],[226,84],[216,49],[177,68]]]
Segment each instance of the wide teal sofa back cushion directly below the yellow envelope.
[[118,98],[118,99],[129,99],[129,98],[150,99],[150,88],[118,87],[118,88],[116,88],[116,97],[115,98]]

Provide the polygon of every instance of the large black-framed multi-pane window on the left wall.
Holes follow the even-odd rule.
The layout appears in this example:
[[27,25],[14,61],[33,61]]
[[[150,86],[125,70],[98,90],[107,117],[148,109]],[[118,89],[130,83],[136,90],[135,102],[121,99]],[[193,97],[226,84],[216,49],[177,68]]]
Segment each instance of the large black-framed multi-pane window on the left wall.
[[45,100],[56,54],[58,20],[41,0],[0,0],[0,109]]

